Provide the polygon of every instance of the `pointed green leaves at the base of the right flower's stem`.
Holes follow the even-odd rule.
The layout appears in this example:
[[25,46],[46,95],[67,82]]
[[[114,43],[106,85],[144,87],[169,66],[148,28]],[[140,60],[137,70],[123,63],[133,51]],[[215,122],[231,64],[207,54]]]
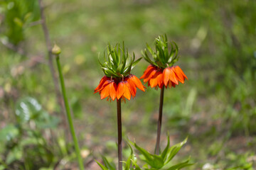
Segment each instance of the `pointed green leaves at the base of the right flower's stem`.
[[191,166],[193,164],[188,163],[190,158],[188,158],[185,162],[181,162],[178,164],[171,163],[171,160],[176,156],[178,151],[181,149],[183,145],[186,144],[187,139],[183,140],[183,142],[180,142],[172,147],[170,147],[170,140],[168,135],[168,142],[163,152],[161,152],[160,155],[151,154],[147,152],[142,147],[139,147],[135,142],[132,143],[136,149],[142,154],[142,161],[146,162],[145,169],[149,169],[148,166],[150,166],[150,169],[163,169],[163,170],[178,170],[182,169],[186,166]]

